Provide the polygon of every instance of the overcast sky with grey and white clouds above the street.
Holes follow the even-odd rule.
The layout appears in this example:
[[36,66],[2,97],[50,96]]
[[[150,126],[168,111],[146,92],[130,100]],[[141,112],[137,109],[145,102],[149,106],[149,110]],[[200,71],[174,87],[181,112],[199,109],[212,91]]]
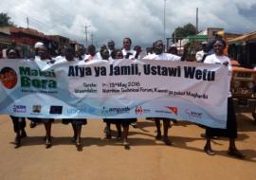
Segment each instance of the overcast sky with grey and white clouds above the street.
[[[166,37],[171,36],[175,27],[195,25],[196,8],[199,30],[256,30],[256,0],[167,0]],[[83,44],[86,25],[89,43],[93,33],[96,45],[113,39],[119,46],[124,37],[130,37],[133,45],[142,46],[163,39],[164,0],[1,0],[0,11],[9,13],[19,27],[27,27],[28,17],[31,28]]]

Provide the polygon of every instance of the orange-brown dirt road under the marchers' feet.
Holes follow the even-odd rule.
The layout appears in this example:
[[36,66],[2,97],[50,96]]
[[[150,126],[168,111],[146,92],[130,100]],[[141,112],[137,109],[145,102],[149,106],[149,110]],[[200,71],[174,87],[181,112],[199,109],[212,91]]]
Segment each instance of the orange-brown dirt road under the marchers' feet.
[[[30,129],[23,146],[14,149],[11,120],[0,116],[1,180],[254,180],[256,179],[256,125],[248,115],[238,116],[237,147],[247,154],[245,160],[227,155],[229,141],[214,140],[215,155],[203,152],[204,131],[198,126],[178,122],[169,133],[173,146],[155,140],[155,124],[139,119],[130,127],[130,150],[116,139],[106,140],[104,124],[89,119],[82,128],[82,152],[71,143],[71,125],[54,123],[53,146],[46,149],[43,125]],[[114,129],[114,126],[113,128]]]

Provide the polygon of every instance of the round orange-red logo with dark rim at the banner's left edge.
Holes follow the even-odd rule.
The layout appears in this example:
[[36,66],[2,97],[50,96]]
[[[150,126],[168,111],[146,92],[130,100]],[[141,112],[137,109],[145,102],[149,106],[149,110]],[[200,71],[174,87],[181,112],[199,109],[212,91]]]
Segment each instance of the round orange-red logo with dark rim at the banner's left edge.
[[0,72],[0,81],[7,89],[12,89],[17,84],[17,74],[12,68],[4,67]]

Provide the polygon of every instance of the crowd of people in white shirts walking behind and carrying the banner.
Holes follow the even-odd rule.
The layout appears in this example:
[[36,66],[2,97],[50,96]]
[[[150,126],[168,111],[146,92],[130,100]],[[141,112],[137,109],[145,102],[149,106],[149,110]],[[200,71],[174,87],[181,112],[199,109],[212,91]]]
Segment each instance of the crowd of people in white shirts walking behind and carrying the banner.
[[[200,63],[220,63],[226,65],[229,68],[229,73],[231,73],[231,63],[229,57],[224,54],[224,49],[226,47],[226,42],[222,39],[215,39],[212,43],[212,52],[207,53],[203,52],[201,55],[198,55],[198,62]],[[92,60],[120,60],[120,61],[132,61],[135,59],[145,59],[145,60],[155,60],[155,61],[184,61],[185,55],[178,56],[177,50],[174,47],[168,47],[165,52],[164,44],[161,40],[155,41],[152,47],[148,47],[146,56],[141,56],[141,47],[139,45],[135,45],[134,49],[132,49],[132,40],[130,38],[124,38],[122,42],[122,48],[116,48],[114,41],[109,41],[107,45],[101,45],[101,49],[99,52],[96,51],[96,47],[94,45],[88,45],[86,51],[81,49],[78,53],[69,46],[66,45],[59,49],[59,56],[50,57],[47,52],[46,46],[43,43],[37,43],[35,45],[35,57],[33,61],[47,61],[47,63],[60,63],[63,61],[72,62],[72,61],[84,61],[85,63]],[[9,59],[19,58],[17,51],[15,49],[9,49],[8,52]],[[29,60],[31,61],[31,60]],[[229,137],[229,155],[243,158],[245,155],[241,153],[235,145],[235,139],[237,137],[237,125],[236,125],[236,117],[234,113],[234,108],[231,99],[231,93],[229,92],[228,99],[228,121],[227,121],[227,129],[215,129],[210,127],[205,127],[206,129],[206,145],[204,147],[205,153],[209,155],[213,155],[214,152],[211,149],[210,139],[213,136],[226,136]],[[21,139],[27,136],[26,133],[26,118],[25,117],[13,117],[10,116],[13,122],[14,132],[16,134],[14,144],[15,147],[21,146]],[[38,123],[44,123],[46,128],[46,148],[51,147],[51,125],[54,122],[52,118],[34,118],[28,117],[31,120],[30,127],[34,128]],[[172,141],[168,136],[168,130],[171,128],[171,122],[176,123],[175,119],[170,118],[162,118],[162,117],[147,117],[147,119],[155,120],[156,127],[156,139],[161,139],[164,141],[166,145],[172,145]],[[163,122],[163,135],[161,134],[161,124],[160,121]],[[87,123],[87,119],[80,118],[64,118],[62,119],[64,124],[71,123],[73,127],[73,141],[80,151],[82,149],[82,141],[81,141],[81,132],[82,125]],[[106,138],[112,138],[111,134],[111,124],[115,124],[117,128],[117,139],[123,140],[123,145],[125,148],[129,148],[128,143],[128,134],[129,134],[129,126],[133,125],[137,126],[137,118],[104,118],[103,121],[106,123],[104,128],[104,133]],[[122,127],[122,128],[121,128]]]

